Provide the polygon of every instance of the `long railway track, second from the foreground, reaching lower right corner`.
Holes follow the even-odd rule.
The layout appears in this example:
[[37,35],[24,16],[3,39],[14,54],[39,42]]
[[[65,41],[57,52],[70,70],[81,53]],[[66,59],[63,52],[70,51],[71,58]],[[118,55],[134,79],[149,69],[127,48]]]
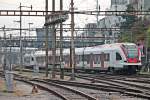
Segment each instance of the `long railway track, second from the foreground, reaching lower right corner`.
[[[91,79],[91,78],[88,79],[88,80],[93,81],[93,79]],[[130,95],[130,96],[150,99],[150,96],[148,94],[145,94],[143,90],[127,88],[127,87],[122,87],[122,86],[118,86],[118,85],[113,85],[113,84],[109,84],[108,82],[107,83],[109,84],[109,86],[108,85],[105,86],[105,85],[99,85],[99,84],[92,84],[92,83],[88,84],[88,83],[81,83],[81,82],[79,83],[79,82],[70,82],[70,81],[50,80],[50,79],[47,79],[45,81],[53,82],[53,83],[57,83],[57,84],[61,84],[61,85],[63,84],[63,85],[68,85],[68,86],[69,85],[70,86],[77,86],[77,87],[96,89],[96,90],[102,90],[102,91],[108,91],[108,92],[110,92],[110,91],[119,92],[119,93],[127,94],[127,95]],[[95,80],[95,82],[98,82],[98,81]]]

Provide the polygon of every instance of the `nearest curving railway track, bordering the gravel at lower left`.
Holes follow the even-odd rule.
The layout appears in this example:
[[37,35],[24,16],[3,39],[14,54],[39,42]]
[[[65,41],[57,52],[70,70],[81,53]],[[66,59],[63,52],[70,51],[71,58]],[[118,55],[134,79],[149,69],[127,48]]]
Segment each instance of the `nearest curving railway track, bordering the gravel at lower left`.
[[[63,98],[63,100],[70,100],[68,98],[67,95],[63,94],[63,93],[59,93],[57,90],[55,90],[54,88],[50,88],[48,86],[54,86],[54,87],[58,87],[58,88],[62,88],[64,90],[68,90],[68,91],[71,91],[72,93],[74,94],[78,94],[80,95],[81,97],[85,97],[87,100],[97,100],[96,98],[88,95],[88,94],[85,94],[84,92],[81,92],[81,91],[78,91],[78,90],[75,90],[75,89],[72,89],[72,88],[69,88],[69,87],[66,87],[66,86],[63,86],[63,85],[59,85],[59,84],[56,84],[56,83],[52,83],[52,82],[47,82],[47,81],[44,81],[44,80],[41,80],[41,79],[32,79],[32,78],[29,78],[29,77],[26,77],[26,76],[21,76],[19,74],[14,74],[15,75],[15,79],[16,80],[20,80],[20,81],[24,81],[26,83],[29,83],[29,84],[32,84],[32,85],[36,85],[38,86],[39,88],[43,88],[45,90],[45,88],[48,89],[48,91],[51,91],[52,93],[54,93],[55,95],[58,95],[59,97]],[[43,84],[43,85],[42,85]],[[59,89],[59,90],[60,90]],[[66,93],[67,94],[67,93]]]

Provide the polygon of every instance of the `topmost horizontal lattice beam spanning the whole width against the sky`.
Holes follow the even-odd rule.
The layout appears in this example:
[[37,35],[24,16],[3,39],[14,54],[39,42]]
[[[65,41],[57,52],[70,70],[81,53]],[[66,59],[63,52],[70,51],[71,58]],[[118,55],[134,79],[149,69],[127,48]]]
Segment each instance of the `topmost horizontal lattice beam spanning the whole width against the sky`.
[[[46,11],[43,10],[22,10],[22,16],[46,16]],[[70,14],[71,11],[48,11],[49,16],[60,15],[60,14]],[[99,16],[122,16],[122,15],[150,15],[149,10],[143,11],[88,11],[88,10],[77,10],[73,11],[74,14],[83,15],[99,15]],[[20,16],[19,10],[0,10],[0,16]]]

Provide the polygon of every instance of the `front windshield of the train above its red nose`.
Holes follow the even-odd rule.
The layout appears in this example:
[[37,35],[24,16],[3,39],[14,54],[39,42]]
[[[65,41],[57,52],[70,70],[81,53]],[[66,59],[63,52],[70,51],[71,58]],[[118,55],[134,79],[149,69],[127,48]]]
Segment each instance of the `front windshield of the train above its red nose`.
[[138,58],[138,48],[136,45],[124,45],[128,58]]

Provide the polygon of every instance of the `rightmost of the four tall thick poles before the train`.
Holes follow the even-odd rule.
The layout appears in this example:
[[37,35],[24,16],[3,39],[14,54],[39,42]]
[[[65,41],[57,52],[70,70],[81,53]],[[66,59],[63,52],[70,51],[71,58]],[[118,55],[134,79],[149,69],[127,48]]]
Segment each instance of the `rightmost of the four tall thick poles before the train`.
[[74,48],[74,2],[71,0],[71,63],[70,66],[72,68],[72,75],[70,80],[75,80],[75,61],[74,61],[74,54],[75,54],[75,48]]

